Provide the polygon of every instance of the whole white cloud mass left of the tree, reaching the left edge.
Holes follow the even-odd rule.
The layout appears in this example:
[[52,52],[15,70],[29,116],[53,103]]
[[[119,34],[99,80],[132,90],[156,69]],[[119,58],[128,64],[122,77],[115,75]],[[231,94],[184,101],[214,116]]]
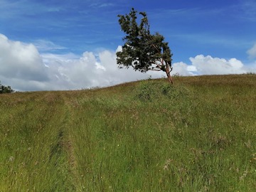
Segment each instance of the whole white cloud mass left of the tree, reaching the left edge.
[[82,55],[39,53],[33,44],[0,35],[0,80],[14,90],[77,90],[159,77],[159,73],[119,70],[115,52]]

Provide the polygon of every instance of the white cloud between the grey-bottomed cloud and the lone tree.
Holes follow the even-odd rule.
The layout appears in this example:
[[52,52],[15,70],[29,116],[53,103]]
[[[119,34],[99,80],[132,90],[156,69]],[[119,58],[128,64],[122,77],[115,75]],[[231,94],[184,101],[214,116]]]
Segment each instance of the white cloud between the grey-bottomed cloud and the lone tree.
[[[44,55],[43,55],[44,56]],[[50,77],[54,82],[53,90],[81,89],[86,87],[103,87],[149,78],[150,73],[143,74],[134,70],[119,70],[115,52],[103,50],[97,53],[85,52],[80,58],[67,59],[66,55],[47,55]],[[43,58],[45,60],[46,58]],[[156,77],[156,74],[153,75]]]

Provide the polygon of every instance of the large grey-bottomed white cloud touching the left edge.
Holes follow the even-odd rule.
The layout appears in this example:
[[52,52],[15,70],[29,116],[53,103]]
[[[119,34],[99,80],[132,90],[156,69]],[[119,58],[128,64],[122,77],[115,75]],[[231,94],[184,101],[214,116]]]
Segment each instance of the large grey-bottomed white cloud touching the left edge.
[[6,78],[48,80],[41,55],[33,44],[9,41],[0,34],[0,73]]

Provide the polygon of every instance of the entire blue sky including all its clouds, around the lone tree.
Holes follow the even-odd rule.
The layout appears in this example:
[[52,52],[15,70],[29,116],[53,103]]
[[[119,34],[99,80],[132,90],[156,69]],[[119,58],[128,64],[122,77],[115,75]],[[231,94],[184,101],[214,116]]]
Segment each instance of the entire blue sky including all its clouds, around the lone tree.
[[174,72],[255,73],[255,0],[0,0],[1,82],[70,90],[146,78],[116,69],[124,36],[117,15],[132,7],[169,42]]

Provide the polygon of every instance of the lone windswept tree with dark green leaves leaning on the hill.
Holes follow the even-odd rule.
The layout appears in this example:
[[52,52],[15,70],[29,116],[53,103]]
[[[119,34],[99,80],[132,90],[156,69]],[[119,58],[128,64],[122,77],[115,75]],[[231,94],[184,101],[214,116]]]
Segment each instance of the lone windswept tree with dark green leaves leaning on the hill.
[[118,15],[122,31],[126,33],[122,50],[117,52],[119,68],[129,68],[146,73],[148,70],[164,71],[171,84],[171,49],[159,33],[151,35],[149,21],[145,12],[139,12],[140,23],[137,23],[137,11],[132,8],[129,14]]

